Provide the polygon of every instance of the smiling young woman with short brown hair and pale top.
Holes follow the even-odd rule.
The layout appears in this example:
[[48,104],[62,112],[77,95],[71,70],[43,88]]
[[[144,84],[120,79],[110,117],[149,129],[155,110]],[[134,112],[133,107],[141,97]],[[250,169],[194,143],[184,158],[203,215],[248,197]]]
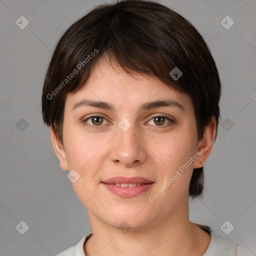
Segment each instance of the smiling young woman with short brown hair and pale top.
[[65,31],[42,115],[92,232],[58,256],[236,255],[236,243],[188,218],[220,92],[202,36],[159,3],[99,5]]

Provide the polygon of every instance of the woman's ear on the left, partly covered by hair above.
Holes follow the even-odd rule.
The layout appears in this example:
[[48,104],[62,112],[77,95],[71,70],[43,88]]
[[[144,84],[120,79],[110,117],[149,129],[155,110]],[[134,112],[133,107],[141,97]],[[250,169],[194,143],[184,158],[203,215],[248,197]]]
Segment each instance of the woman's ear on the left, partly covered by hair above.
[[61,169],[68,170],[68,164],[67,164],[67,160],[66,160],[65,151],[63,149],[61,142],[57,138],[57,135],[55,134],[52,126],[50,126],[50,134],[51,134],[50,138],[51,138],[51,143],[52,143],[53,149],[59,159],[59,165],[60,165]]

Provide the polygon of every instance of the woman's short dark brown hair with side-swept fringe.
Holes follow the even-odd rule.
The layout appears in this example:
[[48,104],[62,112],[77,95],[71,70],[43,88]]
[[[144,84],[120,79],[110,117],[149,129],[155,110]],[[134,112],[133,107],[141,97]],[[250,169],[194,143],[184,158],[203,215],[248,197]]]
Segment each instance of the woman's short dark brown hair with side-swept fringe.
[[[189,21],[162,4],[121,0],[98,5],[79,18],[63,33],[52,54],[42,89],[42,117],[62,145],[66,95],[84,86],[105,53],[128,73],[155,76],[187,93],[194,106],[198,139],[211,116],[216,119],[217,134],[221,84],[202,36]],[[182,72],[178,79],[169,74],[174,67]],[[193,170],[189,195],[199,196],[202,189],[203,167]]]

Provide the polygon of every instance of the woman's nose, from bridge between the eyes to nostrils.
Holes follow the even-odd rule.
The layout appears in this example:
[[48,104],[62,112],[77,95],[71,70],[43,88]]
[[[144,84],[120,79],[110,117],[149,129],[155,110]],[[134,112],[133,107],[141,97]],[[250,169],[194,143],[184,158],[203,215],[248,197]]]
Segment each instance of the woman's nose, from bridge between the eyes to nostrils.
[[111,141],[110,159],[125,167],[141,164],[146,159],[146,145],[142,135],[136,131],[135,124],[131,124],[127,130],[120,127],[116,127],[116,135]]

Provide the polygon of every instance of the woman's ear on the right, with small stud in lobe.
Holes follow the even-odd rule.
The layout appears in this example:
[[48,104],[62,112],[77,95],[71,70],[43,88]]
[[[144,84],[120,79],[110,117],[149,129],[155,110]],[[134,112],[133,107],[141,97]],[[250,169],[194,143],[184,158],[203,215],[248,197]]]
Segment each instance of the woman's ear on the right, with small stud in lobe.
[[[200,156],[194,161],[194,168],[200,168],[203,166],[205,160],[210,154],[211,148],[216,135],[216,119],[211,117],[209,124],[205,127],[202,139],[199,142],[197,151],[200,151]],[[201,164],[201,162],[203,162]]]

